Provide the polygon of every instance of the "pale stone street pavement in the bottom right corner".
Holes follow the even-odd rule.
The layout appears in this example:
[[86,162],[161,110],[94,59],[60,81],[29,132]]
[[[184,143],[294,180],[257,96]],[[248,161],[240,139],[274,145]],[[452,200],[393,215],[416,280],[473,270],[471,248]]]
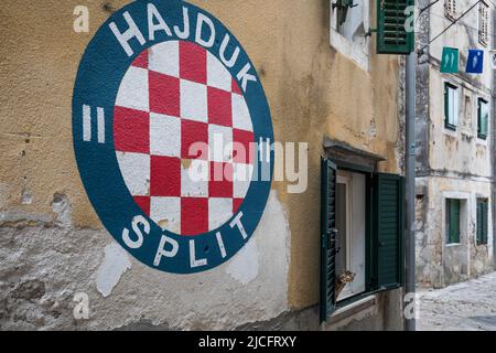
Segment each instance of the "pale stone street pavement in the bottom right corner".
[[496,272],[419,295],[419,331],[496,331]]

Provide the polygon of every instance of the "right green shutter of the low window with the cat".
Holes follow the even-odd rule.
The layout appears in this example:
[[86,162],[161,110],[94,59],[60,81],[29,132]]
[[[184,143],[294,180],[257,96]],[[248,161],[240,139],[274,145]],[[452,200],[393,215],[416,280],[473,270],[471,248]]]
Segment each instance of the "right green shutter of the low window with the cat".
[[400,287],[403,279],[405,178],[377,174],[374,180],[376,286],[387,290]]

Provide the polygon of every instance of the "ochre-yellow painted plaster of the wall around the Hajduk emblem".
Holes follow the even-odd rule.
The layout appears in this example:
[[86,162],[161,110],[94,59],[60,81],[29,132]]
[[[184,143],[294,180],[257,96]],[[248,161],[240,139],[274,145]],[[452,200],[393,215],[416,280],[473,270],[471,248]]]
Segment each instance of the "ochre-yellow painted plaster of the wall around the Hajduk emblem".
[[[0,9],[0,211],[15,213],[14,223],[53,216],[54,195],[63,194],[72,205],[73,228],[101,228],[75,163],[72,90],[88,41],[110,15],[106,9],[128,1],[107,1],[108,7],[84,2],[89,34],[72,30],[72,12],[80,1],[6,0]],[[309,190],[288,194],[285,183],[273,189],[291,233],[289,307],[315,304],[323,138],[384,156],[388,160],[381,170],[400,172],[399,61],[374,54],[373,45],[365,72],[332,49],[326,0],[192,2],[223,21],[250,55],[270,104],[276,139],[310,142]],[[22,204],[22,195],[24,201],[31,195],[32,202]]]

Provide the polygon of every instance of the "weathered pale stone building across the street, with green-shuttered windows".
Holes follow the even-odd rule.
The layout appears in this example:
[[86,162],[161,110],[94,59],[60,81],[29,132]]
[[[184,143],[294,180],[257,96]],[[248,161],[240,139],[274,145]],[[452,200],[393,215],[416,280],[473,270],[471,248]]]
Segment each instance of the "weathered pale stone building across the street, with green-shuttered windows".
[[[428,6],[420,1],[417,280],[445,287],[494,269],[494,3]],[[459,49],[457,73],[441,73],[444,47]],[[465,72],[468,50],[484,51],[482,74]]]

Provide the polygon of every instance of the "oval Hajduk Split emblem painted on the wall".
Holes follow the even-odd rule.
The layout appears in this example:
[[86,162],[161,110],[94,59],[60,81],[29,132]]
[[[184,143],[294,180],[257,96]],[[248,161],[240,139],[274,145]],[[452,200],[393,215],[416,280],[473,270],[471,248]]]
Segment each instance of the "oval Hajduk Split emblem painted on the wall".
[[79,172],[116,240],[159,270],[212,269],[249,242],[272,179],[254,64],[214,17],[136,1],[89,43],[73,100]]

